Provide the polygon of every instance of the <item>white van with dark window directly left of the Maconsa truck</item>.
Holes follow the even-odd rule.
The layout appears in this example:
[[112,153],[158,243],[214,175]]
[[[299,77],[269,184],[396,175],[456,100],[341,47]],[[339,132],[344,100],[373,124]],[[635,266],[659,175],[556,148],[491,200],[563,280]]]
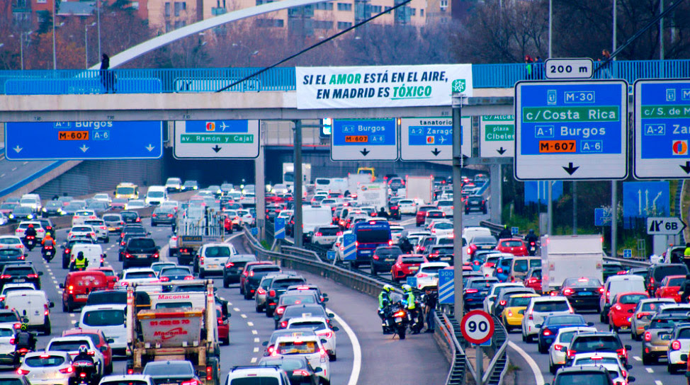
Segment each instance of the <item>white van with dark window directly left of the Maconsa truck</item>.
[[113,354],[124,355],[127,347],[126,309],[127,305],[115,304],[84,306],[75,327],[101,329],[106,338],[113,339],[109,344],[113,348]]

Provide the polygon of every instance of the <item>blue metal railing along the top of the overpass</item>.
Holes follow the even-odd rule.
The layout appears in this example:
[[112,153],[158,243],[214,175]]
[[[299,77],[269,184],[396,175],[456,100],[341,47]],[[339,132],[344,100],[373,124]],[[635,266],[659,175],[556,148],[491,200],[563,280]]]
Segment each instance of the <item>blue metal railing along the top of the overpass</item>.
[[[595,67],[598,63],[595,62]],[[258,68],[198,69],[113,69],[113,91],[117,93],[213,92],[250,76]],[[542,79],[543,64],[475,64],[472,67],[475,88],[511,88],[516,81]],[[620,60],[611,62],[595,79],[689,78],[690,59]],[[98,70],[60,69],[0,71],[0,94],[59,95],[103,93],[105,77]],[[228,88],[230,92],[293,91],[295,69],[278,67]]]

